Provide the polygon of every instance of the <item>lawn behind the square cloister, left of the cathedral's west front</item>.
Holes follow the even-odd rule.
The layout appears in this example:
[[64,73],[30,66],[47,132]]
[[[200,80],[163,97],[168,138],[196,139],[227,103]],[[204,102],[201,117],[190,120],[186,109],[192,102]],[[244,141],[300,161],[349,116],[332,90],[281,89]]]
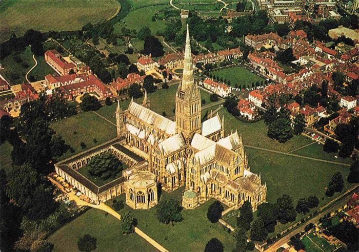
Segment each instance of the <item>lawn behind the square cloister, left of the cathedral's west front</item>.
[[[66,144],[74,149],[74,153],[68,151],[61,159],[116,137],[116,127],[92,112],[82,112],[66,119],[54,121],[50,126],[63,137]],[[93,139],[96,139],[96,142]],[[86,144],[85,149],[81,148],[81,142]]]

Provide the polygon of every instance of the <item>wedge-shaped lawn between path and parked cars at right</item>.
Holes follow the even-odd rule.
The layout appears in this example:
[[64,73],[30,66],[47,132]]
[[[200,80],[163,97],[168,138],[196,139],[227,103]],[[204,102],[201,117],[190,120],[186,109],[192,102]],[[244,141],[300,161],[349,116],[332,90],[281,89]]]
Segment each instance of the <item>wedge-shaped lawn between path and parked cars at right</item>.
[[[348,163],[352,164],[354,161],[350,158],[341,158],[338,157],[337,153],[327,153],[323,151],[323,145],[314,143],[309,145],[303,149],[297,150],[295,152],[291,152],[292,154],[313,157],[313,158],[321,158],[328,161],[340,162],[340,163]],[[337,156],[338,158],[335,158]]]

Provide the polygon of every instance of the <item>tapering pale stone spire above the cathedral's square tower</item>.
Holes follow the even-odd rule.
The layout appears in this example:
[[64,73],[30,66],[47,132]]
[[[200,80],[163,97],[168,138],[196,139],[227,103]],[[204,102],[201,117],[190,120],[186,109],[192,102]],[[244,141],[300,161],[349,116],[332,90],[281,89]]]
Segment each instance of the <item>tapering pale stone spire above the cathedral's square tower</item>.
[[193,74],[193,62],[191,53],[191,40],[189,37],[189,29],[187,24],[185,59],[183,61],[182,83],[179,87],[181,91],[192,89],[195,86]]

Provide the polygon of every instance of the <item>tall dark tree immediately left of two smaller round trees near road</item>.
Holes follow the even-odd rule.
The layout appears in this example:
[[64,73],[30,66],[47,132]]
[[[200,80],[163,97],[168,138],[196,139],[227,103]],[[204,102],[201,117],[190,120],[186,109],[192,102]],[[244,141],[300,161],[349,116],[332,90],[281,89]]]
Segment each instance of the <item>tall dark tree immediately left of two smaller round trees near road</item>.
[[277,199],[275,203],[275,214],[278,221],[286,224],[295,220],[296,212],[293,206],[293,200],[289,195],[284,194]]

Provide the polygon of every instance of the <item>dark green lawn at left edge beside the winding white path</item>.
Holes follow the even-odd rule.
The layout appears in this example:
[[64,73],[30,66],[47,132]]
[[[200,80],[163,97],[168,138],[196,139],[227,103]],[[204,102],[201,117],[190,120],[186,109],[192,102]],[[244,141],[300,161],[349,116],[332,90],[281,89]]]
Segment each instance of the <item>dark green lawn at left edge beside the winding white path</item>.
[[[0,25],[1,26],[1,25]],[[0,70],[0,74],[10,83],[11,86],[26,82],[26,73],[34,66],[32,52],[30,47],[26,47],[23,52],[16,53],[22,62],[17,63],[14,58],[15,54],[11,54],[0,60],[4,69]]]

